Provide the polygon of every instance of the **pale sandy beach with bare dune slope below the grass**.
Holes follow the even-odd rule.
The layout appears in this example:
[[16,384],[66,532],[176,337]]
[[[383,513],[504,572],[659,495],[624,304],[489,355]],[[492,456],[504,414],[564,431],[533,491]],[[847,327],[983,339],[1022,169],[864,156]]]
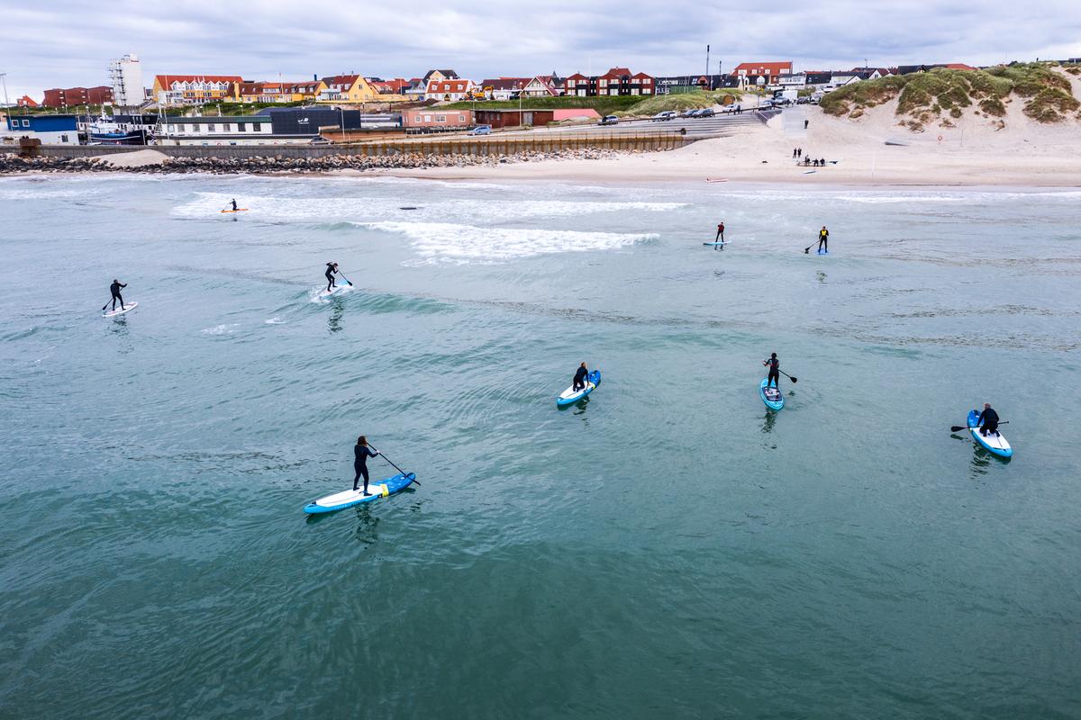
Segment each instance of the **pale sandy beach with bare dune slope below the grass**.
[[[898,126],[896,100],[857,120],[833,118],[817,106],[797,106],[737,134],[679,150],[603,160],[552,160],[499,166],[389,171],[440,179],[571,180],[598,182],[753,181],[806,185],[1081,187],[1081,121],[1041,125],[1020,101],[1009,106],[1005,127],[970,111],[955,127],[913,133]],[[803,121],[809,127],[803,130]],[[886,145],[886,140],[907,142]],[[792,149],[837,161],[797,166]],[[808,173],[813,169],[815,172]]]

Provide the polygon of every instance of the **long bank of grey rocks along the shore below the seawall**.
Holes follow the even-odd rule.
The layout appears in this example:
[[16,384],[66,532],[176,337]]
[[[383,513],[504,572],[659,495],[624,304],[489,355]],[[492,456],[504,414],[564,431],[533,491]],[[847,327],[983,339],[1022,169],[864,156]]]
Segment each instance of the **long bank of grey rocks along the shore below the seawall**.
[[146,164],[112,163],[108,158],[19,158],[0,154],[0,175],[16,173],[211,173],[211,174],[304,174],[335,171],[385,171],[427,167],[475,167],[502,163],[544,162],[548,160],[599,160],[623,151],[578,149],[551,152],[518,152],[490,155],[436,155],[396,153],[386,155],[326,155],[320,158],[288,158],[256,155],[249,158],[165,158]]

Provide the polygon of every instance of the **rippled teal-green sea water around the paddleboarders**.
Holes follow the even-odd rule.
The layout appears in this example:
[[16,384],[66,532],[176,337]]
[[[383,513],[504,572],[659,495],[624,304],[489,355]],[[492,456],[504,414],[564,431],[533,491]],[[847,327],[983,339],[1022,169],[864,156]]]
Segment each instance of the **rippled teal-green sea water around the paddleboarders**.
[[[0,717],[1081,717],[1081,192],[118,175],[0,217]],[[984,402],[1009,462],[949,432]],[[307,518],[358,434],[421,485]]]

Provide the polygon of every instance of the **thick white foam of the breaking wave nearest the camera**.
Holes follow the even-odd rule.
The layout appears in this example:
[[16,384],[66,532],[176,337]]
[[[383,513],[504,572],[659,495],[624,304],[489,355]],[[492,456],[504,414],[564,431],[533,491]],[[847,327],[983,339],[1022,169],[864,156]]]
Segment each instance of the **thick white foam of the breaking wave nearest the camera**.
[[657,235],[536,228],[479,228],[450,222],[373,222],[369,227],[409,237],[429,261],[506,262],[537,255],[614,250]]

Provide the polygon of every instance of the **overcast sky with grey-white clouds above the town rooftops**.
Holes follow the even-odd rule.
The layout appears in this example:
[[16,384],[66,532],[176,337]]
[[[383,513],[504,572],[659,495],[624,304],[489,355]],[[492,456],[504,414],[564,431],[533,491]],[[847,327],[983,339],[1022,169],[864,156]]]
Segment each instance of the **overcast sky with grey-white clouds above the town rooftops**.
[[[516,3],[517,4],[517,3]],[[603,72],[703,72],[706,44],[729,70],[1081,56],[1078,0],[730,2],[720,0],[284,0],[146,2],[0,0],[0,72],[12,100],[46,87],[108,84],[110,58],[135,53],[158,73],[304,80],[356,71],[415,77],[432,67],[480,80]],[[760,11],[746,10],[761,8]]]

